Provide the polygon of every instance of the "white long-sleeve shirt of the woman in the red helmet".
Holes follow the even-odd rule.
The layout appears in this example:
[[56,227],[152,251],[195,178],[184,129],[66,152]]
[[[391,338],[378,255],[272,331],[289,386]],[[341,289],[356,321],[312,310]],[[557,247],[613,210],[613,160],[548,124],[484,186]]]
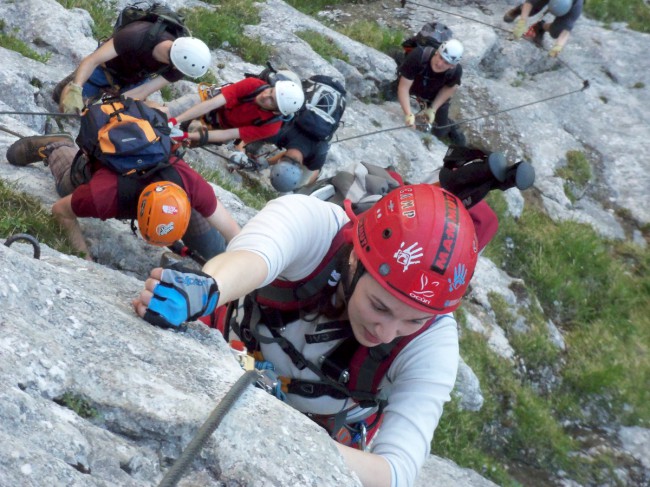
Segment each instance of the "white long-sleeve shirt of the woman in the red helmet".
[[[269,270],[264,285],[278,277],[296,281],[320,264],[335,235],[348,221],[345,211],[337,205],[310,196],[287,195],[269,202],[230,242],[228,250],[260,255]],[[315,333],[317,324],[298,320],[283,332],[314,363],[338,343],[306,343],[305,335]],[[280,375],[318,380],[309,369],[299,370],[278,345],[263,345],[262,352]],[[445,315],[399,352],[381,381],[382,396],[388,399],[388,405],[371,451],[389,462],[392,486],[414,484],[429,455],[443,404],[450,399],[458,361],[456,321]],[[314,414],[335,414],[350,406],[349,400],[329,396],[306,398],[290,394],[287,402]]]

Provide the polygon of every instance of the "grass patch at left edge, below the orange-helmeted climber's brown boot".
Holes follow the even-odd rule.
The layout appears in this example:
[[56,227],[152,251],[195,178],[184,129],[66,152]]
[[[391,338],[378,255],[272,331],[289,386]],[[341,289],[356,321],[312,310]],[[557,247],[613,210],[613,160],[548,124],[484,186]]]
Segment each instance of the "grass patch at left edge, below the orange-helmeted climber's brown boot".
[[40,200],[0,180],[0,236],[17,233],[28,233],[60,252],[77,255],[65,230]]

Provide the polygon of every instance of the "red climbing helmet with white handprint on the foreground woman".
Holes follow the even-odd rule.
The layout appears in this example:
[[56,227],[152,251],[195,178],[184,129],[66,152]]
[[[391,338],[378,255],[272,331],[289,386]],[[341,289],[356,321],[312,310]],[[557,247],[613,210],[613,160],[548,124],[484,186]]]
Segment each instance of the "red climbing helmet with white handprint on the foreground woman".
[[455,310],[474,274],[478,240],[462,202],[431,184],[401,186],[358,217],[354,250],[400,301],[426,313]]

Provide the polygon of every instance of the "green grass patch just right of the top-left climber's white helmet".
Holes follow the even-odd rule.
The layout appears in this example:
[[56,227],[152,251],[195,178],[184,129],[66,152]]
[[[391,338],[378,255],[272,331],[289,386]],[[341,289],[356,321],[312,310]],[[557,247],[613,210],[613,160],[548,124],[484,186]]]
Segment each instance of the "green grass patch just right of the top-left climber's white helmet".
[[181,9],[181,12],[192,35],[212,49],[231,49],[254,64],[266,63],[273,54],[272,49],[259,39],[244,35],[245,25],[260,23],[253,0],[230,0],[220,2],[216,8]]

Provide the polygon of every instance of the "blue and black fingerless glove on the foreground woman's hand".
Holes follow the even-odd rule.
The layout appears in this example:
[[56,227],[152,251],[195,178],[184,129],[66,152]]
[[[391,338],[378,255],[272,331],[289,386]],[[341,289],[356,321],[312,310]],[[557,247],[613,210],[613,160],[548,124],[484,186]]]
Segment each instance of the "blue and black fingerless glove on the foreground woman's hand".
[[219,287],[211,276],[175,263],[163,269],[144,319],[161,328],[178,328],[212,313],[217,301]]

